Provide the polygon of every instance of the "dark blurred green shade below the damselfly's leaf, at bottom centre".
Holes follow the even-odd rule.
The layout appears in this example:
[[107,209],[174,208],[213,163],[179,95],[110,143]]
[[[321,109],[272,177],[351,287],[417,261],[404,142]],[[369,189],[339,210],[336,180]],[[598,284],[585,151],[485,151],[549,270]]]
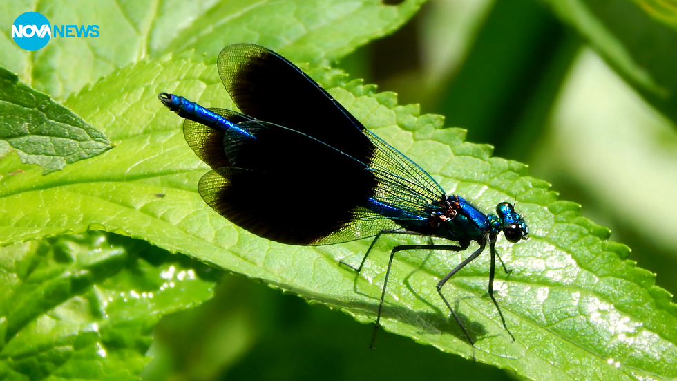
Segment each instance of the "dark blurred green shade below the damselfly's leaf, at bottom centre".
[[153,362],[144,380],[514,380],[493,366],[383,331],[372,350],[372,328],[325,306],[225,276],[213,299],[155,327]]

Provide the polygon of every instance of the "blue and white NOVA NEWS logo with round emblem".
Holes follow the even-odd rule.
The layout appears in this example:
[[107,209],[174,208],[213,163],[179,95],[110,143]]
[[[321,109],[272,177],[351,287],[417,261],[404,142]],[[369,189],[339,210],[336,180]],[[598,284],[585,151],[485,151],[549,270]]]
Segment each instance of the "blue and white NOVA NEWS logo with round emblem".
[[12,24],[12,39],[23,50],[39,50],[52,37],[99,37],[98,25],[55,25],[39,12],[26,12]]

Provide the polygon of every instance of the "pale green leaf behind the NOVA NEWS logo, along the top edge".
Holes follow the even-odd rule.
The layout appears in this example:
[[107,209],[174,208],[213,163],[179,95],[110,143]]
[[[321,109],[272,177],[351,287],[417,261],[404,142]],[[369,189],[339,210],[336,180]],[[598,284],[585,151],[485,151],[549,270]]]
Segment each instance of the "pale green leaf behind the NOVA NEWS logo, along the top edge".
[[[61,100],[144,57],[194,50],[216,61],[224,46],[238,42],[265,44],[305,62],[326,62],[397,29],[423,1],[388,6],[374,0],[75,0],[37,11],[51,24],[97,24],[99,37],[55,37],[31,53],[12,40],[8,22],[0,33],[0,66]],[[17,17],[26,5],[4,2],[0,10]]]

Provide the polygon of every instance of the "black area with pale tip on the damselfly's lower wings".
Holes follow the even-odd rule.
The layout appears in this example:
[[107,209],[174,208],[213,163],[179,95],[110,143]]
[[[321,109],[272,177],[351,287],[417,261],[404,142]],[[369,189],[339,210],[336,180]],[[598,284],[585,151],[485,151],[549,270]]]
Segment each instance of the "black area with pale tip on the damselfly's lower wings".
[[373,194],[377,181],[365,165],[323,142],[268,122],[238,127],[251,136],[225,133],[231,166],[205,174],[198,190],[249,232],[292,245],[321,244],[351,223],[353,210]]

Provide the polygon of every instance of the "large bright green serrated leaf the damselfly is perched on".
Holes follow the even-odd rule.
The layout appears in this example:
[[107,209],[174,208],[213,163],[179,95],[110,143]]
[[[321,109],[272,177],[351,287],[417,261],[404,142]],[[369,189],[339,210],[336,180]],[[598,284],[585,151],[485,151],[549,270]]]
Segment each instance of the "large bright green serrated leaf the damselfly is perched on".
[[[526,176],[524,165],[490,158],[490,147],[464,142],[463,130],[441,129],[441,117],[419,115],[418,106],[399,106],[394,94],[377,93],[359,80],[348,82],[340,71],[320,68],[310,75],[447,192],[486,212],[501,201],[517,201],[532,239],[515,245],[499,240],[497,250],[512,272],[498,271],[494,284],[515,342],[486,296],[488,256],[470,263],[444,288],[477,338],[479,361],[531,379],[677,376],[677,310],[671,295],[654,286],[654,275],[627,260],[627,247],[607,241],[609,230],[580,217],[578,205],[557,201],[547,183]],[[356,275],[338,261],[358,263],[369,240],[297,247],[240,230],[198,195],[196,184],[207,166],[184,141],[182,120],[162,109],[156,98],[160,91],[205,106],[232,107],[216,68],[202,62],[165,57],[106,77],[68,106],[102,129],[115,149],[48,176],[24,169],[21,180],[3,179],[0,211],[20,212],[0,214],[1,241],[93,226],[126,232],[373,322],[388,251],[397,243],[427,239],[379,241]],[[115,96],[103,106],[98,94]],[[298,113],[303,115],[303,105]],[[327,194],[333,196],[331,189]],[[317,208],[309,205],[311,211]],[[437,281],[470,250],[399,253],[383,310],[385,328],[470,357],[470,346],[435,292]]]

